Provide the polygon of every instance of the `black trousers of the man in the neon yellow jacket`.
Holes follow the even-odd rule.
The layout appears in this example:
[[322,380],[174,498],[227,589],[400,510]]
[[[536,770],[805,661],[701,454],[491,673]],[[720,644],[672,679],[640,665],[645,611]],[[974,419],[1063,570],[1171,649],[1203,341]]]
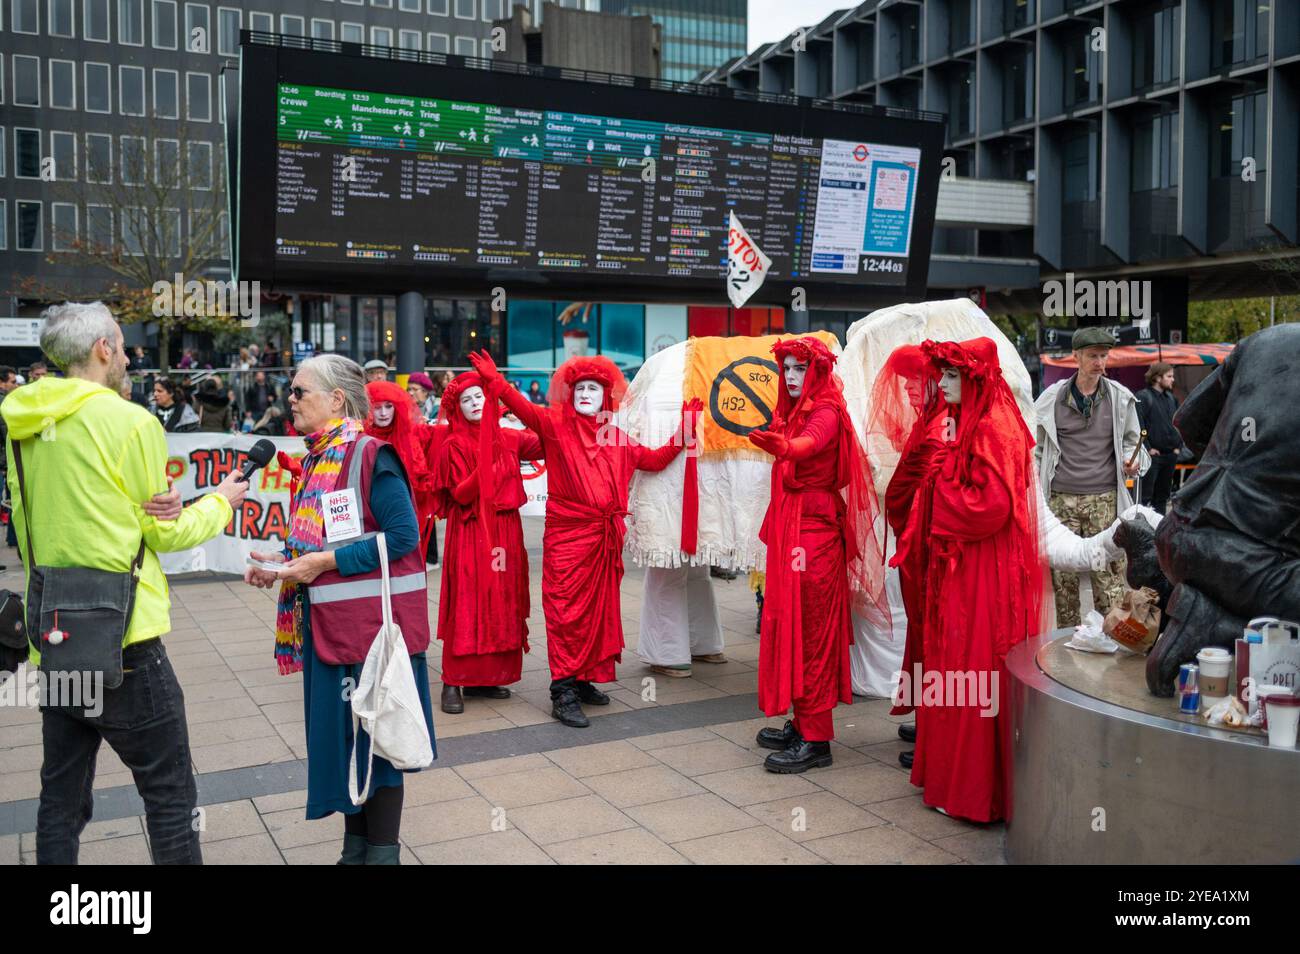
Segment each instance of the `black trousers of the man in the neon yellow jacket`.
[[122,685],[101,690],[99,712],[42,706],[44,763],[36,864],[77,863],[81,833],[95,808],[95,759],[101,741],[135,777],[153,863],[203,863],[185,695],[162,641],[127,646],[122,668]]

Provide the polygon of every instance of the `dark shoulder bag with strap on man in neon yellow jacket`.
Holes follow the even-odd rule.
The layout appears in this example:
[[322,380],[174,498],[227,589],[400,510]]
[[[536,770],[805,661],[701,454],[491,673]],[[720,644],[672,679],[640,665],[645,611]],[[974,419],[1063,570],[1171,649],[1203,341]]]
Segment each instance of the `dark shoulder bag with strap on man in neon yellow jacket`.
[[135,606],[144,538],[131,568],[42,567],[31,546],[31,509],[22,476],[22,447],[12,442],[27,538],[27,639],[47,673],[103,673],[104,686],[122,685],[122,641]]

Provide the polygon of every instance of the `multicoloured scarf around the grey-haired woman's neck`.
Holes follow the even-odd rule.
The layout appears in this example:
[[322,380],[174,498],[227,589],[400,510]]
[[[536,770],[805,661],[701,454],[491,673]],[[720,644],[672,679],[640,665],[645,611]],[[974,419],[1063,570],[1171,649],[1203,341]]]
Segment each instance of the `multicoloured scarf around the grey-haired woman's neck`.
[[[303,476],[294,495],[292,516],[285,548],[289,559],[316,552],[325,543],[325,517],[321,495],[338,486],[347,446],[361,434],[361,422],[351,417],[335,419],[308,434]],[[280,675],[289,676],[303,668],[303,597],[302,584],[283,582],[276,603],[276,663]]]

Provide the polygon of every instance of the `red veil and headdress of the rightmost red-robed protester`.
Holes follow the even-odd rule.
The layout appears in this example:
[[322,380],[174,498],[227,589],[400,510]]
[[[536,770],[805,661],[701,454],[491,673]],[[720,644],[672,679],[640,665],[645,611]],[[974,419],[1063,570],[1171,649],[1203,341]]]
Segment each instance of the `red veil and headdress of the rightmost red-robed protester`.
[[1034,467],[1034,435],[1024,426],[1015,396],[1002,377],[997,344],[992,338],[965,342],[922,343],[936,372],[956,368],[962,376],[962,403],[957,415],[956,467],[944,468],[957,483],[970,482],[971,465],[980,459],[1002,481],[1011,498],[1013,565],[1004,589],[1011,600],[1011,632],[1034,636],[1043,630],[1046,600],[1045,556],[1039,537],[1039,509],[1035,499],[1037,474]]

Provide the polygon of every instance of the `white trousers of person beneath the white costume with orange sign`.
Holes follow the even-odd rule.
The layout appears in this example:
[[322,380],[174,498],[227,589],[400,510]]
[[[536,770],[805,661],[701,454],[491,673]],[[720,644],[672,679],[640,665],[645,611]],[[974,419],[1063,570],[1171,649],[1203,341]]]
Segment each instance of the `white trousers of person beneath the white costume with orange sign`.
[[723,626],[708,567],[646,567],[637,655],[651,665],[690,665],[723,651]]

